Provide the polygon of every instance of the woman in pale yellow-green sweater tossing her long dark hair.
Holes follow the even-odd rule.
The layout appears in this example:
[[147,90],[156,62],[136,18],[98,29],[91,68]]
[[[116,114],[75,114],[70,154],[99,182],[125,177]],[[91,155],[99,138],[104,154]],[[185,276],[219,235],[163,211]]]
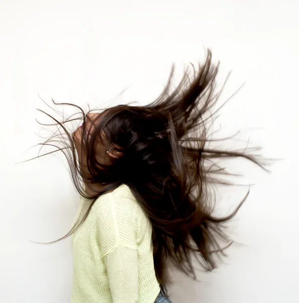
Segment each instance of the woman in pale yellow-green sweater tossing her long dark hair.
[[63,237],[73,239],[73,303],[170,302],[168,262],[194,278],[192,255],[206,270],[215,268],[218,240],[228,241],[222,223],[237,210],[212,215],[209,185],[226,174],[214,160],[244,157],[262,166],[255,156],[208,145],[217,70],[208,51],[193,77],[186,72],[170,92],[172,69],[148,106],[87,115],[79,108],[83,124],[72,135],[65,124],[74,119],[53,118],[67,137],[63,147],[54,137],[43,144],[64,152],[81,195]]

